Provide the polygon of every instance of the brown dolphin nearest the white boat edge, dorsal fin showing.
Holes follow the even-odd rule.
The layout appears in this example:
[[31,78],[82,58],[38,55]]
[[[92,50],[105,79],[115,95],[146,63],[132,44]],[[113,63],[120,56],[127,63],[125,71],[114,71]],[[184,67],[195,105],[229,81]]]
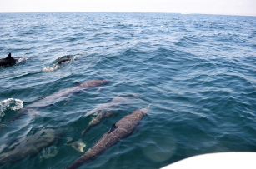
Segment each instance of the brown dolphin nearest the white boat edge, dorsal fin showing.
[[116,124],[106,132],[103,137],[101,137],[98,142],[94,144],[94,146],[85,152],[82,157],[79,157],[78,160],[73,162],[70,166],[66,169],[73,169],[83,166],[88,162],[92,162],[98,156],[103,154],[108,148],[112,147],[113,145],[117,144],[119,140],[130,136],[135,127],[137,127],[138,123],[143,119],[146,113],[148,113],[148,107],[138,109],[134,111],[132,114],[129,114],[126,117],[123,117],[119,120]]

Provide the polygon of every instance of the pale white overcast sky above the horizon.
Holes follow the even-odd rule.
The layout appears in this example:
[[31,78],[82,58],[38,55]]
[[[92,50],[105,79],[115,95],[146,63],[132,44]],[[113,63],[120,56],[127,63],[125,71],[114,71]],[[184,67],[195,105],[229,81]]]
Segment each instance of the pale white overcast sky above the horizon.
[[0,0],[0,12],[182,12],[256,16],[256,0]]

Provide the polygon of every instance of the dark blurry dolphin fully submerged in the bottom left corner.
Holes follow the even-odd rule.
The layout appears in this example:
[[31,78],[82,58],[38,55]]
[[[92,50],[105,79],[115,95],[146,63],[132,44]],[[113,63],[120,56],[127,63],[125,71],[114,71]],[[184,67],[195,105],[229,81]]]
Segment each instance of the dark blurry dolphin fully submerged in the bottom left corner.
[[7,162],[18,162],[23,158],[34,157],[45,147],[53,145],[58,137],[63,137],[64,129],[56,131],[46,129],[37,132],[33,136],[28,136],[22,142],[15,142],[9,147],[10,151],[0,154],[0,166]]

